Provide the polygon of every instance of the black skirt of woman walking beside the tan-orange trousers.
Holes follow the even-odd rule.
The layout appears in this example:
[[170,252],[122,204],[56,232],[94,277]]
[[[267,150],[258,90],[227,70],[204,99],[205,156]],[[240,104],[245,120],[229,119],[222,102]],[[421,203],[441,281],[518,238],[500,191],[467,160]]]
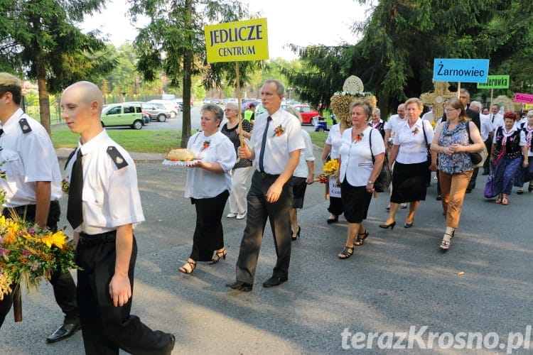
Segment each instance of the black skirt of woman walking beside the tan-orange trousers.
[[428,163],[394,163],[390,202],[403,203],[426,200]]

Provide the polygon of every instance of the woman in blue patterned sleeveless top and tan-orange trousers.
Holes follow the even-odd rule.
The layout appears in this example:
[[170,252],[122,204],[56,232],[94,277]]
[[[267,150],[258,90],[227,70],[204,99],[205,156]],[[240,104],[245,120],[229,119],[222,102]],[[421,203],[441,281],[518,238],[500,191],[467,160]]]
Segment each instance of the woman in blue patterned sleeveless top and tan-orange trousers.
[[[438,153],[438,178],[441,186],[442,207],[446,216],[446,231],[441,251],[450,249],[451,239],[461,218],[461,209],[474,165],[468,153],[483,151],[485,143],[473,122],[470,122],[459,99],[449,99],[444,106],[446,121],[441,123],[431,142],[431,151]],[[468,138],[470,130],[470,144]],[[432,160],[436,159],[434,155]],[[435,161],[432,164],[436,163]]]

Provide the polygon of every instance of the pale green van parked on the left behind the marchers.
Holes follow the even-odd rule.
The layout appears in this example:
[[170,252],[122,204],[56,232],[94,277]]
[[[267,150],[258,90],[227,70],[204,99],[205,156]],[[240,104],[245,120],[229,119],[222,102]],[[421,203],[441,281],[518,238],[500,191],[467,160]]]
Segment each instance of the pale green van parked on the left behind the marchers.
[[141,104],[134,102],[109,104],[102,110],[100,121],[103,127],[129,126],[132,129],[142,129],[144,117]]

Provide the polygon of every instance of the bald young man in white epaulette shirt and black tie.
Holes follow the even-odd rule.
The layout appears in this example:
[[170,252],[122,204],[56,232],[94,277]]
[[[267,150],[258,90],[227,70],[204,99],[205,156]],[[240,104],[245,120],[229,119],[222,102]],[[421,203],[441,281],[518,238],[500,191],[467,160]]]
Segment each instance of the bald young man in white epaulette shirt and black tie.
[[91,82],[63,92],[63,119],[80,135],[66,166],[67,219],[77,246],[77,302],[86,354],[170,354],[173,334],[130,315],[137,246],[144,221],[134,161],[102,129],[103,96]]

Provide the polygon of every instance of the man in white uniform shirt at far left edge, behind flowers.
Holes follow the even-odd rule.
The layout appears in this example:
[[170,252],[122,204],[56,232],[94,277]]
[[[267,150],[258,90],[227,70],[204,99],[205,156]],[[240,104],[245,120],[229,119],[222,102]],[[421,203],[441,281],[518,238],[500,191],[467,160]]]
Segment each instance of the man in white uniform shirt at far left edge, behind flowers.
[[[15,212],[41,228],[58,230],[61,196],[61,172],[50,136],[21,107],[21,81],[6,72],[0,73],[0,161],[4,162],[7,180],[0,179],[6,192],[2,213],[10,218]],[[8,182],[9,181],[9,182]],[[77,316],[76,285],[68,271],[56,271],[50,278],[55,302],[65,320],[46,342],[58,342],[80,329]],[[13,295],[0,301],[0,327],[11,309]]]

